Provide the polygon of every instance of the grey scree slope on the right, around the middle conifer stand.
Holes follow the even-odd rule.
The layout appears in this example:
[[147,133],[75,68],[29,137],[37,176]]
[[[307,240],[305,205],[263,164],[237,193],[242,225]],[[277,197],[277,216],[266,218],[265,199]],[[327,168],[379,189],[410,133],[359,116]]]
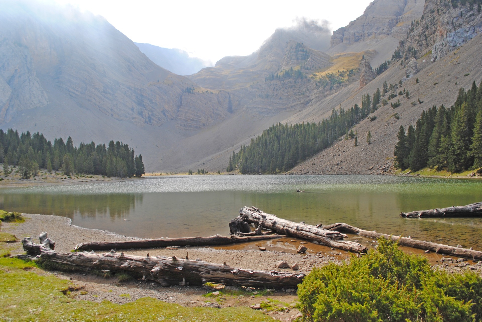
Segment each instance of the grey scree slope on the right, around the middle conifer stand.
[[[433,25],[435,19],[430,16],[430,14],[436,13],[436,5],[442,4],[443,6],[443,3],[443,1],[428,0],[425,4],[424,19],[420,20],[419,26],[431,26],[430,21],[432,21],[432,26],[436,26]],[[438,20],[450,21],[448,19],[453,16],[454,8],[443,7],[446,8],[446,10]],[[305,109],[288,118],[286,121],[293,123],[300,121],[318,122],[323,117],[329,116],[330,112],[328,108],[333,108],[340,104],[343,108],[349,108],[355,103],[360,104],[363,94],[369,93],[372,95],[377,88],[382,88],[384,81],[392,84],[397,84],[399,81],[402,81],[400,89],[409,90],[410,92],[410,98],[398,96],[390,101],[390,103],[393,103],[400,99],[401,105],[399,107],[392,108],[390,103],[386,106],[381,106],[372,115],[376,116],[375,120],[370,121],[370,119],[367,118],[353,128],[353,130],[358,133],[359,146],[354,146],[353,139],[345,141],[343,138],[340,138],[340,141],[336,142],[335,145],[297,165],[290,173],[385,173],[392,169],[393,148],[397,141],[398,129],[401,125],[404,126],[405,129],[410,124],[415,125],[415,121],[420,117],[421,112],[433,105],[452,105],[458,95],[459,88],[463,87],[467,90],[473,81],[479,85],[482,80],[482,68],[480,64],[482,61],[482,53],[480,51],[482,35],[474,36],[474,34],[477,34],[476,26],[480,23],[481,18],[480,15],[475,16],[474,11],[470,10],[469,4],[465,7],[459,5],[457,10],[459,13],[462,12],[462,14],[464,14],[464,12],[469,13],[467,14],[468,23],[457,25],[456,30],[449,28],[449,30],[453,30],[452,32],[455,31],[454,34],[465,35],[460,38],[461,40],[457,42],[456,46],[450,47],[452,52],[447,50],[449,48],[448,46],[444,46],[442,55],[440,54],[441,52],[439,52],[434,56],[433,51],[430,52],[431,49],[438,46],[436,45],[437,41],[435,41],[437,37],[442,37],[441,39],[451,37],[450,32],[445,32],[446,27],[441,27],[440,29],[434,27],[435,30],[432,30],[433,36],[429,37],[430,34],[428,34],[428,40],[434,40],[425,42],[424,47],[417,47],[417,60],[413,58],[410,59],[409,56],[405,63],[401,64],[401,62],[399,62],[391,65],[387,71],[377,76],[362,89],[357,87],[357,84],[351,84],[335,95],[322,100],[318,105],[314,105],[312,108]],[[441,12],[442,10],[439,9],[439,13]],[[474,15],[470,15],[470,13],[474,13]],[[442,23],[442,25],[452,26],[446,23]],[[408,53],[408,44],[413,43],[413,39],[419,39],[419,35],[419,29],[414,27],[409,35],[408,42],[406,42],[405,47],[401,49],[405,49],[405,53]],[[472,37],[471,40],[468,39],[469,37]],[[465,44],[462,39],[465,39]],[[458,45],[459,43],[460,45]],[[425,54],[422,55],[424,52]],[[422,56],[420,57],[420,55]],[[430,61],[431,57],[435,58],[433,59],[434,63]],[[419,80],[418,83],[416,82],[417,78]],[[423,103],[418,103],[419,99]],[[324,115],[320,113],[320,110],[323,108],[325,110]],[[366,142],[366,136],[369,130],[372,135],[371,144]]]

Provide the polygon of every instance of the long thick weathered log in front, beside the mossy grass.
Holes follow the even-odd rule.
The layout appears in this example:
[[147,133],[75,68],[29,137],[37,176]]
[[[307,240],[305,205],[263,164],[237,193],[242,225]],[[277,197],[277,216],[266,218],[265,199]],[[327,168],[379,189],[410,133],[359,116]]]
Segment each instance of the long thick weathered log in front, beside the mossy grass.
[[22,241],[29,255],[40,253],[41,261],[67,265],[74,270],[102,270],[124,272],[143,280],[169,285],[202,285],[207,282],[236,286],[296,287],[305,274],[265,270],[243,270],[225,264],[214,264],[187,258],[162,256],[134,256],[110,251],[105,254],[93,252],[57,253],[44,245],[35,244],[32,238]]

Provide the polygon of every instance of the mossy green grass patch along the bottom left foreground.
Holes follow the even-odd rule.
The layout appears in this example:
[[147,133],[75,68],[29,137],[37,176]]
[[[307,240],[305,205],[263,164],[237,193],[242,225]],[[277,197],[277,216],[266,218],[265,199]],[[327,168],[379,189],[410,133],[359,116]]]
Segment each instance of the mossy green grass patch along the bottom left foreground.
[[150,297],[126,304],[77,300],[84,290],[38,270],[33,262],[0,258],[0,321],[272,321],[248,307],[186,308]]

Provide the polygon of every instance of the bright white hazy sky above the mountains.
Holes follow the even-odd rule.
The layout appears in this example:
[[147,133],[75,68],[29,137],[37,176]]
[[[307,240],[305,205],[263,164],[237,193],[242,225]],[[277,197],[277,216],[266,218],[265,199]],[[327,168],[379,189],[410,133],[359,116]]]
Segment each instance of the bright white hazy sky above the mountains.
[[370,0],[55,0],[104,16],[135,42],[179,48],[216,62],[247,55],[296,17],[328,20],[332,30],[360,16]]

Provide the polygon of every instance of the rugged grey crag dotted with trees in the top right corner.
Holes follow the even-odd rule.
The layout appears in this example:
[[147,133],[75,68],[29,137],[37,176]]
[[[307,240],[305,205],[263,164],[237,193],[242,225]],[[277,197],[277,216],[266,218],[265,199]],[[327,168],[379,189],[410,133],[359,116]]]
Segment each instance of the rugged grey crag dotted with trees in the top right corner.
[[481,31],[482,13],[477,4],[427,0],[424,14],[419,22],[411,26],[403,49],[405,56],[416,58],[431,51],[431,61],[435,62]]

